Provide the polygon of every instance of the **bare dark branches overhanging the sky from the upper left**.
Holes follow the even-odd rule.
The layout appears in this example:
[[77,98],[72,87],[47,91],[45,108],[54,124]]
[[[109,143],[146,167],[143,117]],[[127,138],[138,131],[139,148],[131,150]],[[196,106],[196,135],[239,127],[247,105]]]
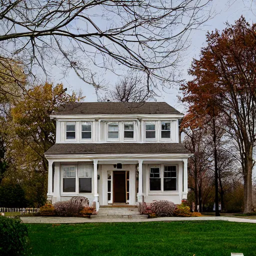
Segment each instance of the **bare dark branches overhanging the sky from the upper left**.
[[[97,67],[145,73],[148,90],[172,79],[187,37],[210,16],[210,0],[2,0],[0,55],[33,74],[73,69],[84,81]],[[95,75],[97,71],[92,72]]]

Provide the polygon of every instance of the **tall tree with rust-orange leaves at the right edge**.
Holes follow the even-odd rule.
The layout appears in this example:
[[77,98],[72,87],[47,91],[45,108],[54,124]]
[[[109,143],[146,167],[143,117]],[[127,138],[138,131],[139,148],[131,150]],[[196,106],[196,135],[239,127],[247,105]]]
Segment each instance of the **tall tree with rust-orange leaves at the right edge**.
[[[256,24],[241,16],[220,33],[207,34],[200,58],[193,59],[193,79],[181,86],[189,105],[183,127],[203,125],[210,108],[224,116],[235,141],[244,183],[244,212],[252,211],[252,168],[256,118]],[[216,114],[216,113],[215,113]]]

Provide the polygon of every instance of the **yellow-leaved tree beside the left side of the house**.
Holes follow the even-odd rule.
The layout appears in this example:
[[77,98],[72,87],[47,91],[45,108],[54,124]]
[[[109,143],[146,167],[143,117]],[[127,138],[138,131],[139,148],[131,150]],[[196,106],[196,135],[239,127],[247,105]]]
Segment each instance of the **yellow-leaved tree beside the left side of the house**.
[[49,115],[58,106],[81,98],[74,92],[69,95],[62,84],[45,83],[32,86],[11,107],[5,153],[9,166],[4,176],[22,183],[30,205],[42,205],[46,199],[48,163],[44,152],[55,141],[55,123]]

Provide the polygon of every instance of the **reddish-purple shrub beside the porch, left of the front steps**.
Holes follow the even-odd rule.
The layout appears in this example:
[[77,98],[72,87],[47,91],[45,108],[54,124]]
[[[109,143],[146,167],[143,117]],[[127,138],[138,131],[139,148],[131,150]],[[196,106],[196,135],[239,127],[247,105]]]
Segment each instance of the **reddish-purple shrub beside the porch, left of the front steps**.
[[84,196],[73,196],[68,201],[54,203],[56,215],[64,217],[73,217],[79,215],[84,207],[89,206],[88,198]]

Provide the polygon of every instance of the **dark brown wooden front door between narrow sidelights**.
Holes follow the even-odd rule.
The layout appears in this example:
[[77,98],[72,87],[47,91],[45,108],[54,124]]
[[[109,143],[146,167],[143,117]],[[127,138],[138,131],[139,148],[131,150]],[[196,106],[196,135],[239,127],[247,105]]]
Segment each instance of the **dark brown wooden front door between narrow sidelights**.
[[126,202],[125,171],[113,171],[113,202]]

